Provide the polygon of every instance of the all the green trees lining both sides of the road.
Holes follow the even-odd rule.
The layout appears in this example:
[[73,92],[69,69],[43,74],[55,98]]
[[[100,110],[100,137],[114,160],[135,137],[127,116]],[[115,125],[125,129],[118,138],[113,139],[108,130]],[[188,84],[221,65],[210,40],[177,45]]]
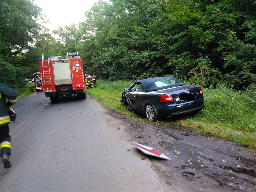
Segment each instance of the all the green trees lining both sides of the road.
[[2,0],[0,8],[5,69],[24,74],[38,69],[42,53],[78,51],[89,74],[108,80],[174,76],[236,88],[256,82],[255,0],[99,0],[84,22],[55,30],[57,41],[37,24],[41,9],[32,0]]

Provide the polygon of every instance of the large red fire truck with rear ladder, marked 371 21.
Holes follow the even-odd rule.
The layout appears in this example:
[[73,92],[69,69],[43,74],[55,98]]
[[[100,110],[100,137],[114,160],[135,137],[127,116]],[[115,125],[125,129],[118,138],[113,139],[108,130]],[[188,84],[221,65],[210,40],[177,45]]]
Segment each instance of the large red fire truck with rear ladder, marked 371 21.
[[39,60],[43,92],[52,102],[73,94],[80,99],[86,98],[84,66],[78,52],[48,57],[48,60],[44,60],[42,54]]

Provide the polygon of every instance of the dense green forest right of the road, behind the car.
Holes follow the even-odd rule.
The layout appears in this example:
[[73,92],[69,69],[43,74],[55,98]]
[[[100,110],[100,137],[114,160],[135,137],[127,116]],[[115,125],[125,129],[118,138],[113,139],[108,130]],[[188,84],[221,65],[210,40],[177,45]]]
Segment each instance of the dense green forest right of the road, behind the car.
[[109,80],[201,76],[197,84],[243,87],[256,81],[255,13],[253,0],[98,1],[69,39],[88,72]]

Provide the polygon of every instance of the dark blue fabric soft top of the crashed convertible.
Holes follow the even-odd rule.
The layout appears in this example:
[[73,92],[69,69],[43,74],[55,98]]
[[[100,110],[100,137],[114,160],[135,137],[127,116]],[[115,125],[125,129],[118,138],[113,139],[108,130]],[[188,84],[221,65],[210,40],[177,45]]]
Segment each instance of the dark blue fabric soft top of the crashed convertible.
[[169,87],[176,87],[176,86],[181,86],[181,85],[186,85],[185,83],[179,83],[179,84],[172,84],[172,85],[167,85],[163,87],[157,87],[155,82],[165,80],[165,79],[175,79],[173,77],[153,77],[153,78],[148,78],[148,79],[142,79],[135,81],[134,83],[141,83],[144,86],[145,91],[156,91],[160,89],[166,89]]

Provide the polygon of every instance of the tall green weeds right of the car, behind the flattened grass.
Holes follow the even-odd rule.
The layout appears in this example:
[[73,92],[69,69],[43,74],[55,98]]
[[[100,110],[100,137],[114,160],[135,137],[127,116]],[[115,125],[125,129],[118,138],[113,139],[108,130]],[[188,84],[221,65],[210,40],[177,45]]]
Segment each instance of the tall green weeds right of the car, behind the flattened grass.
[[[254,88],[254,90],[253,90]],[[201,118],[213,123],[226,123],[244,132],[256,131],[255,85],[246,91],[235,91],[225,84],[204,89],[205,105]]]

